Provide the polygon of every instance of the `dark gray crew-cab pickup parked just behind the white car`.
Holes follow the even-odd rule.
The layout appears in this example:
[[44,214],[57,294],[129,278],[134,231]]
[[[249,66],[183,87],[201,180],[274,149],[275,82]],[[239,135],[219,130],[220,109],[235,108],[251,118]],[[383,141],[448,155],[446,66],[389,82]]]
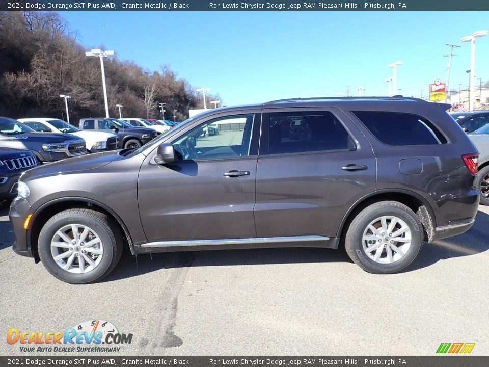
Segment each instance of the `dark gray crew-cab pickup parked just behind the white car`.
[[83,131],[114,133],[119,137],[120,148],[143,146],[156,136],[158,132],[146,127],[134,127],[125,121],[113,117],[90,117],[80,119],[79,128]]

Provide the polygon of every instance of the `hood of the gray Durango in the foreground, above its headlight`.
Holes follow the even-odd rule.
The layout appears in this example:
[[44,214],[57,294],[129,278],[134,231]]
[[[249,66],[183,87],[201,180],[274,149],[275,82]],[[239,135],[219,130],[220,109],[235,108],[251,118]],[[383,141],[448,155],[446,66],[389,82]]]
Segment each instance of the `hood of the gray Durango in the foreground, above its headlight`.
[[22,180],[53,174],[92,170],[103,167],[120,158],[121,156],[115,150],[72,157],[32,169],[22,176]]

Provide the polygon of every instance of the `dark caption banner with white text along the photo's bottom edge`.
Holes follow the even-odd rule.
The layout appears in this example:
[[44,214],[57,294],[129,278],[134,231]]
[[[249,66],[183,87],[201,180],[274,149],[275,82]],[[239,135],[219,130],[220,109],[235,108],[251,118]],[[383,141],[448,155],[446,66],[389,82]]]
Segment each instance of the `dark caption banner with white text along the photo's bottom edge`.
[[0,366],[356,366],[356,367],[487,367],[488,357],[433,356],[433,357],[0,357]]

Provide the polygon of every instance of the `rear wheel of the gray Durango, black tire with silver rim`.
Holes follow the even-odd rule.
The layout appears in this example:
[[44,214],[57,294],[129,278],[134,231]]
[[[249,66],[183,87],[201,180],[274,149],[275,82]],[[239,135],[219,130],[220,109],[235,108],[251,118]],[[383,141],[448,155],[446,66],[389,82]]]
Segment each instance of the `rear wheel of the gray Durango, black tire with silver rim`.
[[[392,233],[386,233],[382,230],[381,218],[383,217],[384,223],[387,225],[385,229],[390,229]],[[395,218],[396,221],[387,217]],[[379,220],[377,221],[377,219]],[[394,228],[389,228],[392,222],[394,222]],[[376,230],[378,234],[368,229],[370,224],[375,229],[379,229]],[[396,231],[402,229],[405,231],[409,229],[409,233],[401,232],[395,235]],[[394,235],[389,237],[390,234]],[[365,238],[372,238],[372,241],[365,240],[364,235]],[[409,235],[410,237],[408,237]],[[409,238],[411,241],[408,241]],[[404,246],[403,248],[403,244],[409,244],[409,247]],[[345,237],[345,248],[348,256],[360,268],[373,274],[392,274],[408,267],[418,257],[422,245],[423,227],[418,216],[409,207],[397,201],[381,201],[367,206],[351,222]],[[367,253],[366,249],[370,247],[373,250]],[[394,247],[403,255],[401,256],[393,250]],[[373,253],[374,251],[375,253]],[[388,253],[391,254],[391,258]],[[378,258],[375,259],[377,254]]]

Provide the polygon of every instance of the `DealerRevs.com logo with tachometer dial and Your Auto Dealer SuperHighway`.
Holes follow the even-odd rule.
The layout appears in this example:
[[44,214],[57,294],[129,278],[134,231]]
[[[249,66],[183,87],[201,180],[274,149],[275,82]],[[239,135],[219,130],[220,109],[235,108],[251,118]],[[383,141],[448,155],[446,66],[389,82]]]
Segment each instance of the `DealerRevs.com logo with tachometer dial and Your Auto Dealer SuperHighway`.
[[119,352],[120,345],[131,342],[132,334],[105,320],[87,320],[64,331],[7,331],[7,343],[19,345],[21,352]]

